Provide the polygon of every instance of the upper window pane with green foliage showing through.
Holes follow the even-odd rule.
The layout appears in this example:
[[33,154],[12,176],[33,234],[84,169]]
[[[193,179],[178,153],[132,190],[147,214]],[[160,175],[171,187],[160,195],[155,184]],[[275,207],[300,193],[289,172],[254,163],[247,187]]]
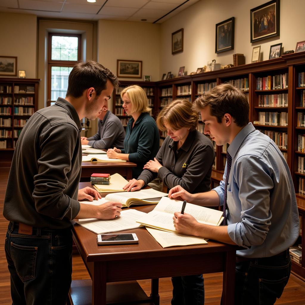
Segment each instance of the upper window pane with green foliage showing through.
[[78,38],[52,36],[52,60],[77,60]]

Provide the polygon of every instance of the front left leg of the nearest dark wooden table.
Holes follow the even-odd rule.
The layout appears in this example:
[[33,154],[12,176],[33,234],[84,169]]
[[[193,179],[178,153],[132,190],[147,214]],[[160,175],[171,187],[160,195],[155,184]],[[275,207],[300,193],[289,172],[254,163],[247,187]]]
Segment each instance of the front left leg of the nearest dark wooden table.
[[92,305],[106,305],[106,263],[95,262],[92,274]]

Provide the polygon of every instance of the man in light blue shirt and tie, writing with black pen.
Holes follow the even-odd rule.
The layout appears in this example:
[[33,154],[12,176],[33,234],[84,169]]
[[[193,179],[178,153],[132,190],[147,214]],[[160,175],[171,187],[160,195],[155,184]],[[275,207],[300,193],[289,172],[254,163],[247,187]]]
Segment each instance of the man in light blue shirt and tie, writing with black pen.
[[199,224],[175,213],[176,229],[187,235],[244,247],[237,251],[235,304],[274,304],[288,282],[289,246],[299,236],[299,216],[289,167],[275,143],[249,123],[249,103],[231,84],[221,84],[194,102],[204,133],[230,144],[220,186],[190,194],[181,186],[170,198],[202,206],[222,205],[225,223]]

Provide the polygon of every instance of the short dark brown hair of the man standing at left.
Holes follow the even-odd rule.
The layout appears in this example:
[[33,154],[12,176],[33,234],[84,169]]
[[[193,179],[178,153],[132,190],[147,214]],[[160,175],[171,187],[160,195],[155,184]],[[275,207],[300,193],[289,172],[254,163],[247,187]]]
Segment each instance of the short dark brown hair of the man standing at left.
[[109,69],[94,60],[78,61],[69,74],[68,90],[66,96],[79,98],[84,90],[93,87],[99,96],[106,89],[107,80],[113,87],[119,85],[119,80]]

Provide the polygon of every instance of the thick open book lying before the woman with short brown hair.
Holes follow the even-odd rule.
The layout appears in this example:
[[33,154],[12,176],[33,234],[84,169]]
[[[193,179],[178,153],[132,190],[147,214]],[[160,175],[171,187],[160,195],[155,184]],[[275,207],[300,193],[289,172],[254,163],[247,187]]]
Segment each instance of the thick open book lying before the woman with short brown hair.
[[106,195],[109,201],[118,201],[123,206],[131,206],[132,204],[157,204],[161,197],[167,196],[167,193],[159,192],[153,188],[139,190],[136,192],[113,193]]

